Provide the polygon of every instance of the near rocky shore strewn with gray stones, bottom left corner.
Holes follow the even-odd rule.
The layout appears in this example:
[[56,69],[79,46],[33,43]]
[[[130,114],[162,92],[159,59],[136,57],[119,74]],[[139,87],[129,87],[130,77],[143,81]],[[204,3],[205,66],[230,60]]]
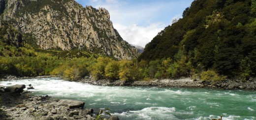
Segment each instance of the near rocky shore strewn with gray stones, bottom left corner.
[[[0,86],[0,120],[96,120],[94,109],[85,109],[83,101],[30,96],[25,88]],[[112,116],[108,120],[119,119]]]

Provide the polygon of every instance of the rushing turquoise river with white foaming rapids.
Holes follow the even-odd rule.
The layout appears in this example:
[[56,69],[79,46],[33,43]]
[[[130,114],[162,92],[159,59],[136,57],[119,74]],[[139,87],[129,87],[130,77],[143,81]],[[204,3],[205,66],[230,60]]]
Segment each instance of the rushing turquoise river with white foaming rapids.
[[33,95],[81,100],[85,108],[110,108],[121,120],[256,120],[256,91],[95,86],[60,78],[0,82],[7,83],[32,84]]

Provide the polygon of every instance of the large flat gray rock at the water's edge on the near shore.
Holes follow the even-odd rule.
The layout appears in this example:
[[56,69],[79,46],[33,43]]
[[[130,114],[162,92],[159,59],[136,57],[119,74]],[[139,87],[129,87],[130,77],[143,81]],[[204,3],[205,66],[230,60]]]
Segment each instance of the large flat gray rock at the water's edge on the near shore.
[[85,102],[77,101],[77,100],[61,99],[56,104],[57,106],[68,106],[69,109],[74,109],[74,108],[83,108],[85,105]]

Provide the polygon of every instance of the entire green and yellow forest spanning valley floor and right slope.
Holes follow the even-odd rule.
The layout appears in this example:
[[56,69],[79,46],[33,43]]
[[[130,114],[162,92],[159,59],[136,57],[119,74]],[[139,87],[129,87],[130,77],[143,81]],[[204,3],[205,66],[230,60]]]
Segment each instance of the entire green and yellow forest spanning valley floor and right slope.
[[194,0],[137,59],[116,60],[84,50],[40,49],[32,35],[0,26],[0,76],[57,75],[79,80],[206,81],[256,76],[256,0]]

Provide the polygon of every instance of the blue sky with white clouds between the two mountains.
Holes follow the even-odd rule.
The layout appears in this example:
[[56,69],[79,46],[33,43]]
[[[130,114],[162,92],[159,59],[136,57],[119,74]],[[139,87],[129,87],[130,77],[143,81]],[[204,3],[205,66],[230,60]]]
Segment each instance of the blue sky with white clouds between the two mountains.
[[145,47],[173,19],[182,18],[193,0],[76,0],[95,8],[106,8],[110,20],[129,44]]

